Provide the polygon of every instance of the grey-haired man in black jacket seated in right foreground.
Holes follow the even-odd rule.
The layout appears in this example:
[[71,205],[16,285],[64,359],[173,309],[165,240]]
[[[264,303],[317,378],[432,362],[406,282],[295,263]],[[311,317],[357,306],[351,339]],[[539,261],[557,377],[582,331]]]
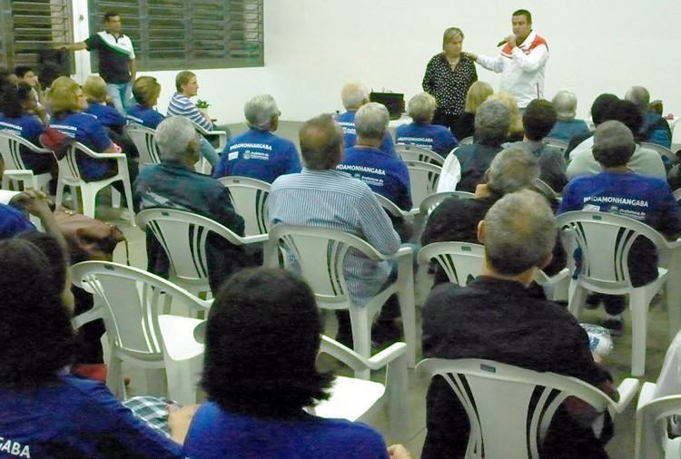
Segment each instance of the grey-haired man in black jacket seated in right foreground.
[[[485,244],[483,275],[468,287],[443,284],[430,292],[423,305],[423,355],[483,358],[573,376],[613,396],[611,378],[594,362],[577,319],[528,288],[535,269],[551,259],[556,240],[556,220],[546,200],[530,190],[507,194],[478,228]],[[596,415],[568,399],[548,426],[540,456],[606,458],[612,426],[606,418],[598,438],[591,425]],[[464,457],[468,416],[441,377],[430,382],[426,427],[423,459]]]

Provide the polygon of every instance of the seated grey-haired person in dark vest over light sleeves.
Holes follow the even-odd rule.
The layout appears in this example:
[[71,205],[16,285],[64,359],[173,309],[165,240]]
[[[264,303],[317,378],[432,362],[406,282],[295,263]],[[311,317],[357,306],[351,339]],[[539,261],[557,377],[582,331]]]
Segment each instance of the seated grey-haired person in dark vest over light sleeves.
[[501,144],[506,142],[509,125],[510,112],[503,103],[487,101],[479,106],[475,115],[475,142],[462,145],[454,152],[461,165],[457,190],[475,190],[489,163],[501,151]]

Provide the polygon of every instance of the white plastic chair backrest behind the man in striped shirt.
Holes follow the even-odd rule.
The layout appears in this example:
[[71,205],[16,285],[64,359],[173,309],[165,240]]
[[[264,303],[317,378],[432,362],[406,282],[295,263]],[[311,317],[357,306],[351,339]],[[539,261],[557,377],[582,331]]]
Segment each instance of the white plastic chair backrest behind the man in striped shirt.
[[375,261],[385,259],[367,241],[326,228],[274,225],[265,250],[265,266],[279,266],[276,247],[281,249],[284,263],[299,270],[307,280],[317,303],[327,308],[334,304],[347,305],[348,284],[343,263],[350,249]]

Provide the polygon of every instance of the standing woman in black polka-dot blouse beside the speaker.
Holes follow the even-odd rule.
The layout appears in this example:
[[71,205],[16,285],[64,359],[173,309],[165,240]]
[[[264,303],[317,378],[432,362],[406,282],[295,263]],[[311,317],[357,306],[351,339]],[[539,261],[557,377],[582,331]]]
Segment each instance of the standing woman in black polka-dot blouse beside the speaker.
[[423,91],[438,101],[433,122],[454,130],[463,113],[466,93],[478,80],[475,63],[461,53],[464,34],[458,27],[449,27],[442,36],[442,53],[435,54],[426,65]]

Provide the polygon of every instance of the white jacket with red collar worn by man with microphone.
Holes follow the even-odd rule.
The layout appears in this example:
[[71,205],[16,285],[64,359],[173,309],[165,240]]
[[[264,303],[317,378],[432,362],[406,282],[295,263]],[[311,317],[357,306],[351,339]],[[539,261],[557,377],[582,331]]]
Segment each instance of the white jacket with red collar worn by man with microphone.
[[547,61],[548,44],[532,31],[513,50],[507,43],[498,57],[479,55],[477,62],[488,70],[501,73],[499,91],[513,94],[518,99],[518,107],[525,108],[533,99],[544,97]]

